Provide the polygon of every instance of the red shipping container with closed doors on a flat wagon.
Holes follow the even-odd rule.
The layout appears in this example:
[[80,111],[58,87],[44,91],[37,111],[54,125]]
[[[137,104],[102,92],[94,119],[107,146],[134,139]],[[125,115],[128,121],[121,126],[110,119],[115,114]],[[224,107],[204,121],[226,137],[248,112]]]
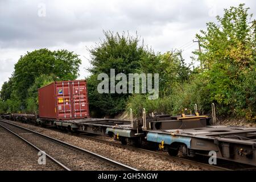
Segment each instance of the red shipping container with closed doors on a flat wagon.
[[89,118],[86,80],[55,81],[38,89],[39,117]]

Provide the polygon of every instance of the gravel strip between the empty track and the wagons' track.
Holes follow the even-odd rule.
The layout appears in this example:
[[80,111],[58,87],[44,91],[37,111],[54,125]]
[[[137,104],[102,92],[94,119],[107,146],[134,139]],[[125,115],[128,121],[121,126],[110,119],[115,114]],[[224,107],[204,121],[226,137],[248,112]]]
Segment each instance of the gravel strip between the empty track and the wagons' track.
[[16,125],[26,127],[28,129],[37,131],[39,133],[48,135],[56,139],[63,140],[64,142],[73,144],[75,146],[84,148],[95,152],[99,155],[105,156],[106,158],[113,159],[117,162],[126,164],[140,170],[159,170],[159,171],[194,171],[202,170],[199,167],[194,167],[189,164],[182,162],[176,162],[171,160],[160,159],[156,156],[145,154],[141,151],[131,151],[125,148],[118,148],[115,146],[110,146],[109,144],[104,144],[89,140],[86,138],[77,137],[72,134],[60,133],[58,131],[49,130],[46,128],[29,125],[26,123],[9,121],[15,123]]

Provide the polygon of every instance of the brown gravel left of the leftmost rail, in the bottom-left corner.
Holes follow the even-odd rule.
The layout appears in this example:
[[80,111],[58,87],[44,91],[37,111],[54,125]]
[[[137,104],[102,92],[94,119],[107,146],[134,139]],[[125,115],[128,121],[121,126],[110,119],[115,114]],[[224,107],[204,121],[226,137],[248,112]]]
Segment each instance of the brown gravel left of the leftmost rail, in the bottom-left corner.
[[55,171],[57,164],[46,158],[46,165],[38,164],[38,151],[0,127],[1,171]]

